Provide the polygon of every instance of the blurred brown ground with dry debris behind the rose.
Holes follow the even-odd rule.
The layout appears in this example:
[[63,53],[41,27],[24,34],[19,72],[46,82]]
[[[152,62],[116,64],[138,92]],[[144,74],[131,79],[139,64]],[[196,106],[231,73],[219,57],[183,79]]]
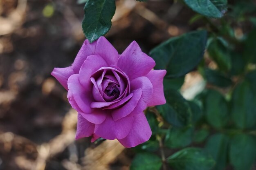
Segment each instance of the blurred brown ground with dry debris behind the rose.
[[[117,141],[74,140],[76,111],[50,75],[54,67],[70,66],[85,40],[83,6],[75,0],[0,0],[0,170],[129,169],[134,152]],[[148,53],[205,26],[172,0],[117,0],[116,6],[106,37],[119,53],[133,40]],[[245,24],[234,32],[239,38],[246,30]],[[182,93],[190,98],[200,82],[197,71],[189,73]]]

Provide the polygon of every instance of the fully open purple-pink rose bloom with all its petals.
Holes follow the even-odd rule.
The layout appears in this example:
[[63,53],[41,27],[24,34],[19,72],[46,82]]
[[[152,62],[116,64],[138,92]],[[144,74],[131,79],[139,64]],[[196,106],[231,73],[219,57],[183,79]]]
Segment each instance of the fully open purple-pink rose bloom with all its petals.
[[147,141],[152,132],[143,110],[166,103],[166,71],[154,66],[135,41],[119,55],[100,37],[92,44],[85,40],[72,66],[54,68],[52,75],[78,112],[76,139],[117,139],[126,148]]

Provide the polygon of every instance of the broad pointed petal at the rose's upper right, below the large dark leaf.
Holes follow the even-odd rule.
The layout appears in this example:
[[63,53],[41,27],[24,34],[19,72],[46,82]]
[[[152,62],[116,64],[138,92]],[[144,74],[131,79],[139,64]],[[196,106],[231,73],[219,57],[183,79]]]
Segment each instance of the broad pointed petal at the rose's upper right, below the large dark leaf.
[[120,55],[117,66],[132,80],[147,75],[155,66],[155,61],[141,52],[137,42],[133,41]]

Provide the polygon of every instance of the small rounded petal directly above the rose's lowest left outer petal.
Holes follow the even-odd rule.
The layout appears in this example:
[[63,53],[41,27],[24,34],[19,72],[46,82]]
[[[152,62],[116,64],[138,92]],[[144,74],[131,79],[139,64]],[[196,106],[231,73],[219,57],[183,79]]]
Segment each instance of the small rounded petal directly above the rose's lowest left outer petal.
[[109,114],[107,111],[102,111],[99,109],[92,109],[92,113],[80,113],[86,120],[90,121],[93,124],[101,124],[105,121],[107,115]]

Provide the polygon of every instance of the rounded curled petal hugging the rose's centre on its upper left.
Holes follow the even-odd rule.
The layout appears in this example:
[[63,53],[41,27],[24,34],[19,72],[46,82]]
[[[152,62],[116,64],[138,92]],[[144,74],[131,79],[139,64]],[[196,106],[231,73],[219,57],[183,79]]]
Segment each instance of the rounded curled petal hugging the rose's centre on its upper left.
[[90,55],[83,62],[79,71],[79,81],[87,91],[92,90],[92,82],[90,78],[93,73],[106,65],[106,61],[100,55]]

